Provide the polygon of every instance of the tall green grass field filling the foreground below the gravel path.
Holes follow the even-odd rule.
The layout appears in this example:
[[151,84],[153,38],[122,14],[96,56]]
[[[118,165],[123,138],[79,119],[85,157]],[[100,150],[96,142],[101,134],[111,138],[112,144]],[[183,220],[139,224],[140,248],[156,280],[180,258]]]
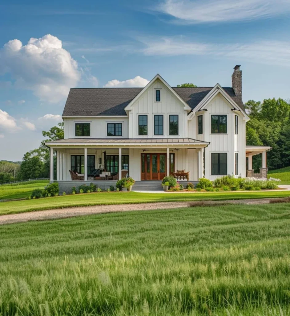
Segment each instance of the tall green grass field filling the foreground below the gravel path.
[[290,204],[0,227],[1,315],[289,315]]

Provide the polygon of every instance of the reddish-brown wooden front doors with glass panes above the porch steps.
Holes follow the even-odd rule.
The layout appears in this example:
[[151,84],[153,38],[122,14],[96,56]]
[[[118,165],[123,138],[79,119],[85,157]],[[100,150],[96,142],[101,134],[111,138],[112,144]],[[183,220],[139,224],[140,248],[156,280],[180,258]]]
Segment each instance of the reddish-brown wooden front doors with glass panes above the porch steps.
[[166,176],[166,154],[141,154],[141,180],[162,180]]

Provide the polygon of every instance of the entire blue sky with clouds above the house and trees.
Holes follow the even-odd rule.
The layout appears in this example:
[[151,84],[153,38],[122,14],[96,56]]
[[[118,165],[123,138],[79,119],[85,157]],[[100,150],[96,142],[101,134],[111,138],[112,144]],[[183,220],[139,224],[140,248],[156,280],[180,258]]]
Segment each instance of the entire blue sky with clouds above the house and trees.
[[289,0],[6,1],[0,4],[0,160],[61,121],[70,87],[231,86],[289,100]]

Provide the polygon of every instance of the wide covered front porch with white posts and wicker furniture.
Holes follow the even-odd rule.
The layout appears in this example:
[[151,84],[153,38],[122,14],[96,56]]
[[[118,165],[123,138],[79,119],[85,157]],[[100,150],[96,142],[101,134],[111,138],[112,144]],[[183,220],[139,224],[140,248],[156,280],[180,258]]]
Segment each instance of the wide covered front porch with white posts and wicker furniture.
[[[49,142],[50,180],[117,181],[130,176],[136,181],[156,181],[177,170],[184,170],[188,172],[188,180],[197,181],[204,176],[203,150],[207,145],[190,138],[64,139]],[[96,170],[101,170],[97,176],[93,174]]]

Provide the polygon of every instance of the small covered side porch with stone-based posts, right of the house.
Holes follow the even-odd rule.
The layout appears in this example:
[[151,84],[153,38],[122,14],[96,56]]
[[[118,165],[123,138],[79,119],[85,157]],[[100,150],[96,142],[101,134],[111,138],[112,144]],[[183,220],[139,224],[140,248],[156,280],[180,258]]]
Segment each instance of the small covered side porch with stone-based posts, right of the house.
[[[271,148],[272,147],[268,146],[246,146],[246,158],[248,158],[248,168],[246,170],[246,177],[267,178],[267,151],[269,151]],[[252,157],[255,155],[262,156],[262,164],[259,168],[259,173],[254,173],[254,169],[252,167]]]

